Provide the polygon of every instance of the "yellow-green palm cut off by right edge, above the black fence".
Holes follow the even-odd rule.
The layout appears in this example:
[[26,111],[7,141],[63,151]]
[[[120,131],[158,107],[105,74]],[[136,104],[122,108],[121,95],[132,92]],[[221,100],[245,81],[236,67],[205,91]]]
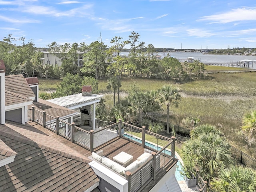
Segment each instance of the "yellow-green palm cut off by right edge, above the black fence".
[[256,110],[246,113],[242,120],[242,131],[246,132],[250,138],[256,136]]

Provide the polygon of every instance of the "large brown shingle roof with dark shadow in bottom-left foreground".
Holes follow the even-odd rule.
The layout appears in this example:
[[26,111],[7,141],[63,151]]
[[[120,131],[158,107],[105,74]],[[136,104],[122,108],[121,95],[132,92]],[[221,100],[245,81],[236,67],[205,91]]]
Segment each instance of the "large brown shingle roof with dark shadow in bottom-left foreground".
[[0,191],[84,192],[99,181],[88,158],[29,125],[0,125],[0,139],[17,152],[0,167]]

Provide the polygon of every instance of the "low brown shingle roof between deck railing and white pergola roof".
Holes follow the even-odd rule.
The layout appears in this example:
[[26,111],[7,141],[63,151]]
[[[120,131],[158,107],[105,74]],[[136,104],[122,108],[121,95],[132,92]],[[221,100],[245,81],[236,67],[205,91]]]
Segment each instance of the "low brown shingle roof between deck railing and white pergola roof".
[[[46,111],[46,114],[56,117],[59,116],[64,117],[64,116],[70,116],[71,114],[78,114],[76,111],[50,103],[46,100],[43,99],[38,99],[38,102],[33,102],[32,105],[28,106],[28,116],[32,117],[32,106],[35,106],[35,109],[40,110],[40,111]],[[47,119],[46,119],[47,121]]]

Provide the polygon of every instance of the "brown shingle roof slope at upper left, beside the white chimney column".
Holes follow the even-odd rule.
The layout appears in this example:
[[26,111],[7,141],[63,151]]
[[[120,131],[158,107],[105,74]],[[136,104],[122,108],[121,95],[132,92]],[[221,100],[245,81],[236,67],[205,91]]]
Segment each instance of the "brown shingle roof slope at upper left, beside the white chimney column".
[[28,98],[35,97],[34,92],[21,74],[5,76],[5,90]]

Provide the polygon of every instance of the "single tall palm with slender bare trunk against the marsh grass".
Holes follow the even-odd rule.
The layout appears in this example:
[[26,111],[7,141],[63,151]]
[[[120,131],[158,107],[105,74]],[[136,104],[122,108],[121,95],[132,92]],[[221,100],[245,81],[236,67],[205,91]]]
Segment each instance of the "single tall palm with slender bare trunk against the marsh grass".
[[172,86],[163,86],[160,90],[158,90],[159,97],[156,99],[160,104],[167,106],[167,129],[166,133],[169,134],[169,111],[170,105],[174,104],[178,107],[178,101],[181,100],[181,96],[178,93],[178,90]]

